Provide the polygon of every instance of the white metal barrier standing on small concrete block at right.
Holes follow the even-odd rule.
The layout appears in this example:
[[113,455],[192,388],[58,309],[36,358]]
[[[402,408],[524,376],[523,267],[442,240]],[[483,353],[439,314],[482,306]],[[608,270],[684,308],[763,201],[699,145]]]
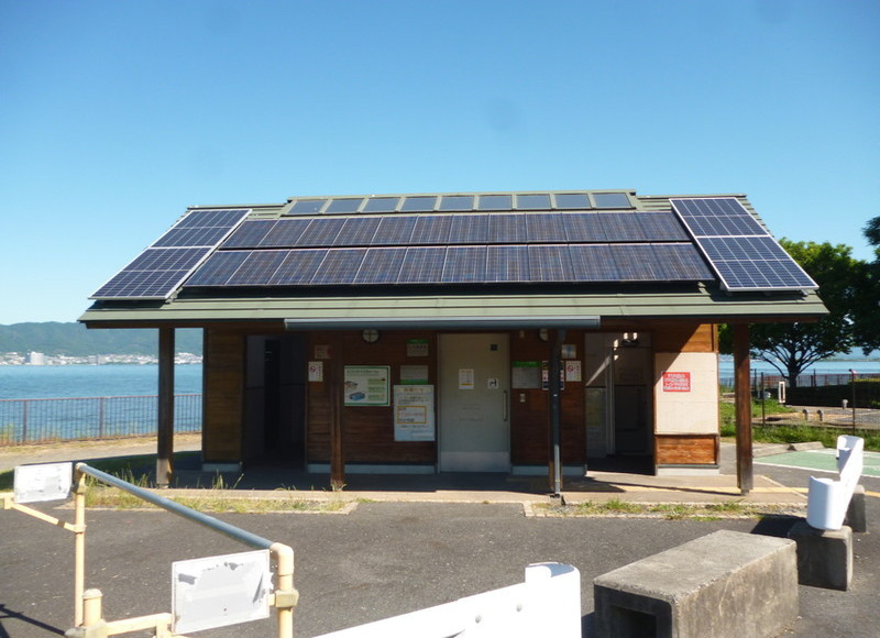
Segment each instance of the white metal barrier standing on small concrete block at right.
[[846,510],[861,479],[865,440],[860,437],[837,437],[839,481],[810,477],[806,499],[806,522],[815,529],[837,530],[844,526]]

